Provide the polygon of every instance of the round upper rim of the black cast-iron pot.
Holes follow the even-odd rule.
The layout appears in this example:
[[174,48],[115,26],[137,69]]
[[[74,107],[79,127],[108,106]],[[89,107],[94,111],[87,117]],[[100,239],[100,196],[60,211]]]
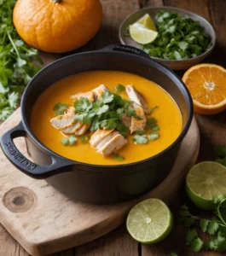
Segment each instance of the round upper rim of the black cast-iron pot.
[[[49,70],[49,68],[55,67],[55,65],[59,65],[60,63],[63,63],[64,61],[68,61],[68,60],[72,60],[75,56],[82,56],[82,55],[96,55],[96,54],[109,54],[109,55],[125,55],[125,56],[130,56],[130,58],[134,58],[137,60],[137,58],[139,58],[142,62],[148,62],[152,63],[151,67],[157,68],[161,73],[165,73],[165,75],[172,79],[172,81],[177,81],[177,83],[181,84],[183,87],[183,90],[186,93],[186,96],[188,97],[187,101],[188,101],[188,119],[186,121],[186,124],[183,127],[183,130],[181,131],[180,135],[177,137],[177,139],[171,143],[171,145],[167,148],[165,148],[163,151],[160,151],[158,154],[154,154],[151,157],[148,157],[144,160],[140,160],[140,161],[136,161],[136,162],[132,162],[132,163],[127,163],[127,164],[121,164],[121,165],[95,165],[95,164],[89,164],[89,163],[84,163],[84,162],[79,162],[79,161],[75,161],[75,160],[70,160],[64,156],[62,156],[61,154],[57,154],[54,151],[52,151],[51,149],[47,148],[45,145],[43,145],[43,143],[41,143],[37,137],[35,137],[35,135],[32,132],[32,129],[30,128],[29,122],[27,121],[26,117],[25,117],[25,109],[26,109],[26,95],[27,93],[29,93],[29,91],[32,88],[32,84],[33,81],[35,79],[37,79],[40,74],[42,74],[43,72],[46,72]],[[63,64],[62,64],[63,65]],[[61,65],[61,66],[62,66]],[[97,70],[97,69],[96,69]],[[177,83],[175,82],[175,84],[177,85]],[[51,85],[50,85],[51,86]],[[179,87],[177,85],[177,87]],[[73,54],[73,55],[68,55],[66,57],[62,57],[59,60],[56,60],[52,63],[50,63],[49,65],[47,65],[46,67],[43,67],[33,78],[32,80],[29,82],[29,84],[27,84],[26,86],[26,90],[23,93],[23,96],[21,98],[21,104],[20,104],[20,113],[21,113],[21,121],[22,124],[27,132],[27,134],[29,135],[29,137],[32,138],[32,140],[38,144],[38,146],[40,148],[43,148],[43,150],[45,150],[46,152],[48,152],[50,155],[54,155],[55,158],[61,159],[61,160],[65,160],[67,162],[71,162],[72,165],[79,165],[79,166],[87,166],[87,167],[95,167],[98,169],[120,169],[121,167],[132,167],[132,166],[139,166],[141,164],[145,164],[146,162],[148,162],[149,160],[155,160],[157,158],[159,158],[159,156],[167,153],[169,150],[171,150],[171,148],[174,148],[178,143],[181,143],[183,141],[183,138],[185,137],[185,135],[188,132],[188,129],[191,125],[192,119],[193,119],[193,115],[194,115],[194,108],[193,108],[193,100],[192,97],[190,96],[190,93],[188,91],[187,86],[183,83],[183,80],[180,79],[176,73],[174,73],[173,71],[171,71],[170,68],[165,67],[164,65],[160,64],[157,61],[154,61],[151,58],[147,58],[141,55],[133,55],[130,53],[126,53],[126,52],[114,52],[113,50],[109,50],[109,49],[100,49],[100,50],[95,50],[95,51],[85,51],[83,53],[77,53],[77,54]]]

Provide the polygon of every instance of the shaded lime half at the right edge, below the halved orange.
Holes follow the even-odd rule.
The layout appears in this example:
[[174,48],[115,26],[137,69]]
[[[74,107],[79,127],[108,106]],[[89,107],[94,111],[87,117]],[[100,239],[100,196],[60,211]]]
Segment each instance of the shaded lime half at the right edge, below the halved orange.
[[188,197],[204,210],[213,210],[215,197],[226,195],[226,167],[211,161],[193,166],[186,178]]

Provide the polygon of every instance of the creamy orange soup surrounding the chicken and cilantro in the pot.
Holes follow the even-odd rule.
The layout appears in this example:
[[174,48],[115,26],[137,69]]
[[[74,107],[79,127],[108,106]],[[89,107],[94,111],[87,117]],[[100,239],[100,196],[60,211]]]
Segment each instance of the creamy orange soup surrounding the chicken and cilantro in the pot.
[[[64,146],[61,143],[63,135],[49,122],[55,117],[53,108],[57,102],[72,106],[70,96],[93,90],[100,84],[105,84],[111,91],[117,84],[132,84],[145,97],[148,106],[159,106],[151,114],[151,117],[158,120],[159,138],[148,144],[135,144],[133,136],[127,137],[128,143],[119,151],[125,157],[124,161],[113,160],[110,156],[104,158],[95,148],[90,147],[90,143],[82,143],[79,139],[73,146]],[[125,92],[119,95],[128,99]],[[169,147],[182,130],[182,117],[176,102],[154,82],[131,73],[94,71],[61,79],[45,90],[32,109],[31,126],[34,135],[43,145],[68,159],[97,165],[121,165],[147,159]]]

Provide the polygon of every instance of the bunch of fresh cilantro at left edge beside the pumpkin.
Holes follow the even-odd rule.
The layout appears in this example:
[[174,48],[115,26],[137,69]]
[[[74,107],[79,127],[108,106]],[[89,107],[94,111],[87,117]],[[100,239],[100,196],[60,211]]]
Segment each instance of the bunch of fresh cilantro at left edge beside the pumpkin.
[[0,120],[14,113],[21,92],[43,63],[38,50],[26,45],[14,29],[15,2],[0,1]]

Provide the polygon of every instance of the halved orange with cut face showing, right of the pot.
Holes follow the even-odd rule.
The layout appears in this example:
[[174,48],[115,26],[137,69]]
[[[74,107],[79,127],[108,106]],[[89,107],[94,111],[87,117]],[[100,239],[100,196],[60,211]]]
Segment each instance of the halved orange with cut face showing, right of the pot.
[[194,102],[194,112],[220,113],[226,109],[226,69],[203,63],[190,67],[183,75]]

